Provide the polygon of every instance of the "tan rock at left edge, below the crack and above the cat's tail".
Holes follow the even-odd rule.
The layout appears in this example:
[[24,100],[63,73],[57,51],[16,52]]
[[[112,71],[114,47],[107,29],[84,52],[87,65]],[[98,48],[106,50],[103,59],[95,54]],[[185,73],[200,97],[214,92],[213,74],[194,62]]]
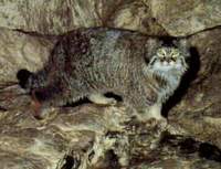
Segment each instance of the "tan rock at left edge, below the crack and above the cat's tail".
[[0,82],[15,81],[18,70],[42,67],[53,44],[52,39],[0,29]]

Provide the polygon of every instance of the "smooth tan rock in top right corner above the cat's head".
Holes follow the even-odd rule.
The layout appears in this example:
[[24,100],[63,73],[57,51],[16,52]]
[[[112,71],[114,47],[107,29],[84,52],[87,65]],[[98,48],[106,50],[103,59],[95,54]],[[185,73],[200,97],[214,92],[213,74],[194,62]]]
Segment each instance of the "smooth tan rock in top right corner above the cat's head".
[[152,17],[173,36],[190,35],[221,24],[221,1],[150,0]]

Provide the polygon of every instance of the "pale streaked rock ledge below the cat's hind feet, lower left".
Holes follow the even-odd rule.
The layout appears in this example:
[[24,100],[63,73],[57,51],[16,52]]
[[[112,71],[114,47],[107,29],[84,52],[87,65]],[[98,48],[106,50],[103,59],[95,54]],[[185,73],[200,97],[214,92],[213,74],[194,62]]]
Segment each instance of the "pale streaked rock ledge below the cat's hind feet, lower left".
[[[107,131],[122,131],[119,124],[126,120],[125,113],[119,109],[107,110],[105,107],[90,105],[55,109],[50,114],[48,118],[39,122],[33,118],[27,107],[1,113],[0,163],[2,169],[62,168],[66,163],[66,159],[62,161],[65,154],[74,151],[72,157],[74,158],[87,149],[88,154],[95,151],[97,157],[94,157],[94,160],[96,161],[104,156],[105,149],[114,144],[115,138],[113,140],[105,138]],[[87,159],[81,160],[83,163]]]

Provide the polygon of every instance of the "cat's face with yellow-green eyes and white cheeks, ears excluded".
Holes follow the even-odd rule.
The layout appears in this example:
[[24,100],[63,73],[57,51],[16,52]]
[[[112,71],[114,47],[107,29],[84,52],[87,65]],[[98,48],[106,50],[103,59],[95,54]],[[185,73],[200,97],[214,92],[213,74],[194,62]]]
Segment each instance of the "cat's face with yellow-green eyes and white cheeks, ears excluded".
[[159,73],[176,71],[183,73],[187,70],[187,63],[182,52],[173,46],[159,47],[149,62],[149,68]]

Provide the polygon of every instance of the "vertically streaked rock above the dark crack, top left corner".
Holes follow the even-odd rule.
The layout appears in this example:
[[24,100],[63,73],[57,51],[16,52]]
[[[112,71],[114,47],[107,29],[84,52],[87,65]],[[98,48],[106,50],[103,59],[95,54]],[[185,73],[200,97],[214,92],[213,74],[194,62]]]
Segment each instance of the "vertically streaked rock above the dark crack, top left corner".
[[76,27],[95,27],[101,21],[91,0],[0,1],[0,25],[42,34],[55,34]]

